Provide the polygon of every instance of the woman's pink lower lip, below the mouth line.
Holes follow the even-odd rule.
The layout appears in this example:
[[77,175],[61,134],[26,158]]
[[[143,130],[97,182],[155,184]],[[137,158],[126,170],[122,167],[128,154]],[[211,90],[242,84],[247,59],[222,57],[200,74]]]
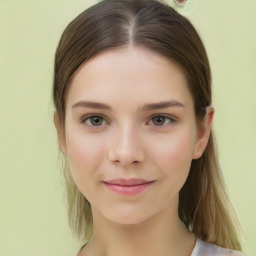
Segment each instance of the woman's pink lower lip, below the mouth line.
[[138,185],[132,185],[132,186],[123,186],[123,185],[116,185],[116,184],[104,184],[112,191],[121,194],[121,195],[137,195],[144,191],[146,188],[148,188],[150,185],[152,185],[152,182],[144,183],[144,184],[138,184]]

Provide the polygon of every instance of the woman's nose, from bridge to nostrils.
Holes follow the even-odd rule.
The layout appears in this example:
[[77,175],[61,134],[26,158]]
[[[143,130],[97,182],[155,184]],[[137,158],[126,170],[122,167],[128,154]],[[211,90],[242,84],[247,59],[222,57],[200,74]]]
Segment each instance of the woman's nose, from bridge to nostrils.
[[138,164],[145,160],[142,148],[136,128],[126,125],[111,136],[108,158],[112,163],[120,166]]

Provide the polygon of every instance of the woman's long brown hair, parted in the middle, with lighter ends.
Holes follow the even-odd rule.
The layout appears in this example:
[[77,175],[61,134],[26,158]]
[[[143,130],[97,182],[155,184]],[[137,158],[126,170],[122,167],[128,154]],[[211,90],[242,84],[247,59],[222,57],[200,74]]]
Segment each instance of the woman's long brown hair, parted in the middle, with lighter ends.
[[[146,47],[177,63],[187,79],[196,118],[211,105],[211,71],[204,45],[192,24],[154,0],[105,0],[81,13],[65,29],[55,56],[54,104],[63,128],[65,93],[72,76],[90,58],[117,47]],[[71,229],[86,239],[90,204],[64,168]],[[223,182],[213,135],[202,157],[192,161],[180,191],[179,216],[204,241],[241,250],[237,219]]]

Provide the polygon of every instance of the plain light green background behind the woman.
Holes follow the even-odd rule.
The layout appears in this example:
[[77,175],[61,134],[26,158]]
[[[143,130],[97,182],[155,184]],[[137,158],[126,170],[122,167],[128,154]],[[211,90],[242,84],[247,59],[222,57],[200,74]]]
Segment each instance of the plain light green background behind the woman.
[[[72,256],[52,123],[54,51],[96,1],[0,0],[0,255]],[[168,0],[166,0],[168,2]],[[256,255],[256,1],[191,0],[213,71],[214,128],[230,196]]]

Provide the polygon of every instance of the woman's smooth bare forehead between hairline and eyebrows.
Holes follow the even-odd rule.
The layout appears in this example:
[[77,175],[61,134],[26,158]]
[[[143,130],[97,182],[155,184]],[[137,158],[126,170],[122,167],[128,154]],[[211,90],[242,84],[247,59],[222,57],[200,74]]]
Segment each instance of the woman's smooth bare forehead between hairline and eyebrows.
[[83,64],[72,79],[67,104],[84,97],[113,103],[121,99],[154,102],[170,97],[192,101],[181,68],[142,47],[109,50]]

